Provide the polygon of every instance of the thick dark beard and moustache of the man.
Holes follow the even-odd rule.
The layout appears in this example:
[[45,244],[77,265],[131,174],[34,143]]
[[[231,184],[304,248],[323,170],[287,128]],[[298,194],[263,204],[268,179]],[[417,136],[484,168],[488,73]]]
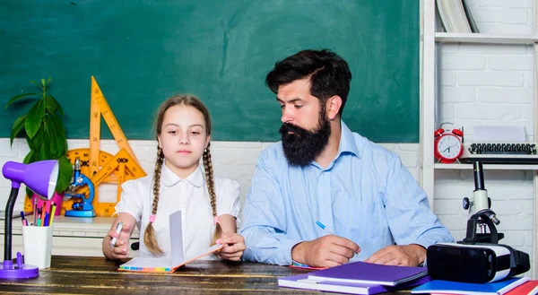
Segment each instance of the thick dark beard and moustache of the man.
[[[325,149],[331,135],[331,125],[325,117],[325,111],[319,117],[319,126],[314,131],[303,129],[289,123],[282,124],[284,155],[291,166],[307,166]],[[289,134],[288,132],[293,132]]]

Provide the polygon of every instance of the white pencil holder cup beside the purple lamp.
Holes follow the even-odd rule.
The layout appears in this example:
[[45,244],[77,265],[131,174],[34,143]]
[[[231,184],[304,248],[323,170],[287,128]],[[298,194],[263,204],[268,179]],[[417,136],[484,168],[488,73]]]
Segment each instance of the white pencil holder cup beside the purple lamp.
[[50,267],[52,226],[23,226],[22,248],[25,265],[38,266],[39,269]]

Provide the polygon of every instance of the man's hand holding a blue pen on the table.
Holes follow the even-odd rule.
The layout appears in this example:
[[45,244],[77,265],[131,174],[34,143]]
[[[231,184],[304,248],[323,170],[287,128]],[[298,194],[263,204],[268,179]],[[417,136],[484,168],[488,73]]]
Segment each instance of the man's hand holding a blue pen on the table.
[[331,267],[350,261],[360,247],[349,239],[338,236],[324,236],[302,242],[291,248],[291,259],[305,265]]

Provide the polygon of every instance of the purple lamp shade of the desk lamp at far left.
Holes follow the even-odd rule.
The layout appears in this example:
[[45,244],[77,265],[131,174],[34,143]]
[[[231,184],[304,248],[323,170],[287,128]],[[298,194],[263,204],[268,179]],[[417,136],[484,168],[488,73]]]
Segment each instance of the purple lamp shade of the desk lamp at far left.
[[19,188],[24,183],[34,193],[50,199],[58,179],[58,161],[37,161],[30,164],[8,161],[2,168],[2,174],[4,178],[12,180],[13,188]]

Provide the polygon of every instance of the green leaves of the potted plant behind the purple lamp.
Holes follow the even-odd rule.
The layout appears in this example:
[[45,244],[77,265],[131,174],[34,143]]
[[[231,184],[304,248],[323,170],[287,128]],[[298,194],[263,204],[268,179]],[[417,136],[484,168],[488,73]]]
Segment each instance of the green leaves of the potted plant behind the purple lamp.
[[[56,193],[61,195],[71,182],[73,166],[65,156],[67,152],[67,138],[65,136],[64,122],[62,121],[64,110],[48,91],[50,80],[51,78],[48,78],[47,81],[41,79],[40,83],[31,81],[39,87],[40,91],[16,95],[5,104],[5,108],[14,107],[17,105],[13,104],[14,102],[25,98],[38,99],[26,115],[15,119],[10,135],[10,144],[13,145],[13,138],[17,135],[25,134],[30,152],[24,158],[24,163],[58,160],[59,176],[56,183]],[[26,193],[29,198],[33,195],[28,188],[26,189]],[[61,202],[62,199],[60,198],[59,200]],[[27,208],[27,204],[31,206],[30,202],[25,202],[24,209],[30,211],[28,209],[31,209],[31,207]]]

